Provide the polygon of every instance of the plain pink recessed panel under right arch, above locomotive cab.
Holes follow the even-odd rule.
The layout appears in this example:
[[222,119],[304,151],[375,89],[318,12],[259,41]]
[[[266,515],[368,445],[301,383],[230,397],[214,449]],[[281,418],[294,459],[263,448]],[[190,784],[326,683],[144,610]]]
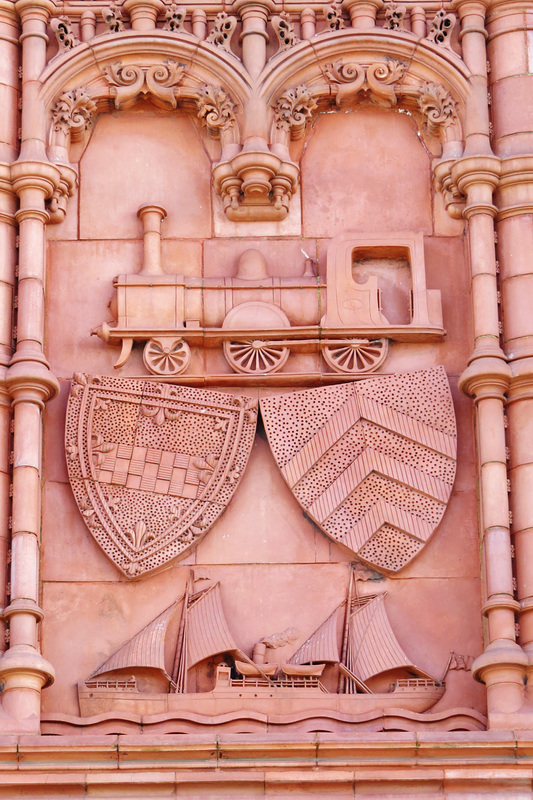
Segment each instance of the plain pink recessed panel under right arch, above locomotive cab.
[[430,167],[408,114],[370,106],[321,114],[301,162],[304,236],[430,234]]

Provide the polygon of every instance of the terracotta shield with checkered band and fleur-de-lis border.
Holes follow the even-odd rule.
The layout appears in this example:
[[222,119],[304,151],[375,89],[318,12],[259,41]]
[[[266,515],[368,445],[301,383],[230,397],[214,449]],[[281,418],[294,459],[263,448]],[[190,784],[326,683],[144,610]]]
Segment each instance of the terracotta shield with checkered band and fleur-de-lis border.
[[225,510],[250,455],[257,402],[76,373],[69,479],[89,531],[133,578],[193,548]]

